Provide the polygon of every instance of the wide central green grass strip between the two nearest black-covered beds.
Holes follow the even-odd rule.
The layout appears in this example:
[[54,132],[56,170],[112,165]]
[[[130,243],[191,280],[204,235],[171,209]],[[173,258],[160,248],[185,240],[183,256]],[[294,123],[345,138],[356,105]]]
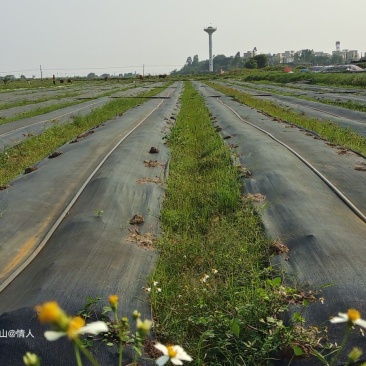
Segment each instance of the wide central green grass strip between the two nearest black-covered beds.
[[151,277],[158,284],[150,292],[157,338],[182,345],[193,365],[266,365],[291,334],[276,319],[281,281],[271,279],[260,218],[191,83],[167,142],[163,236]]

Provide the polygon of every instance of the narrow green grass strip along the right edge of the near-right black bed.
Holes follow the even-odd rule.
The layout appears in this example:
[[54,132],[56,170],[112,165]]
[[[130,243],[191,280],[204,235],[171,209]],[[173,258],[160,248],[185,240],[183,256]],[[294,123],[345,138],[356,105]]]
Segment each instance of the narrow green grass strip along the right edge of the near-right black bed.
[[366,138],[348,128],[342,128],[331,121],[321,121],[317,118],[309,118],[306,115],[289,111],[288,109],[278,106],[273,102],[257,99],[234,88],[225,87],[211,82],[206,82],[206,84],[224,94],[234,97],[237,101],[249,107],[253,107],[283,121],[302,126],[308,130],[318,133],[324,139],[334,144],[344,146],[366,155]]

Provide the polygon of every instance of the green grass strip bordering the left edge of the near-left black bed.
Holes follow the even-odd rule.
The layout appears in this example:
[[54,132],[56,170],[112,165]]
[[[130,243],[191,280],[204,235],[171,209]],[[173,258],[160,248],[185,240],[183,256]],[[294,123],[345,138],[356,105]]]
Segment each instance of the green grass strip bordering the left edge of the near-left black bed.
[[[167,84],[165,87],[168,87]],[[41,135],[31,137],[19,145],[7,148],[0,154],[0,185],[9,184],[21,174],[25,168],[47,157],[51,152],[72,140],[88,129],[98,126],[127,110],[146,101],[146,97],[154,96],[162,91],[156,88],[146,93],[141,93],[141,98],[115,99],[97,108],[86,116],[78,116],[74,121],[65,125],[55,125]]]

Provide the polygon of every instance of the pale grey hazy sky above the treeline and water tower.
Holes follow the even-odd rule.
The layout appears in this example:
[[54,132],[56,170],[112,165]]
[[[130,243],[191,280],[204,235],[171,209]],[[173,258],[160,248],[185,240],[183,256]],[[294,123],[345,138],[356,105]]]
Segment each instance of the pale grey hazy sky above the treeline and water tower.
[[0,75],[167,73],[188,56],[366,51],[366,0],[0,0]]

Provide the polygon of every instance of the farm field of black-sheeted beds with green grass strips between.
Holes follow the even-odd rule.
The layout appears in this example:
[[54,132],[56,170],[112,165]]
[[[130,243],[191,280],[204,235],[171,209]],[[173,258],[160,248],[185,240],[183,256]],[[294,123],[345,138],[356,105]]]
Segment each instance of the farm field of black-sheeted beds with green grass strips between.
[[[264,240],[256,254],[258,278],[270,263],[271,270],[262,281],[280,277],[283,286],[313,294],[303,299],[309,302],[302,309],[306,325],[326,326],[340,311],[366,308],[366,113],[321,101],[344,102],[345,88],[283,88],[233,79],[59,89],[0,93],[0,123],[7,122],[0,125],[2,165],[11,149],[18,149],[19,156],[28,154],[22,144],[41,138],[55,125],[72,126],[98,108],[108,109],[111,101],[135,104],[121,106],[113,117],[65,137],[49,151],[46,148],[41,159],[27,161],[32,168],[27,174],[20,174],[25,173],[23,165],[16,179],[6,178],[6,173],[0,177],[0,329],[22,327],[32,329],[35,336],[1,342],[0,364],[21,365],[17,360],[29,349],[40,354],[45,365],[55,364],[60,354],[64,360],[59,364],[73,364],[68,343],[52,348],[42,338],[44,328],[34,317],[34,306],[57,300],[68,313],[76,314],[88,296],[106,299],[117,293],[125,314],[138,309],[143,318],[154,319],[157,336],[184,344],[193,364],[244,365],[251,360],[251,365],[287,365],[289,359],[275,354],[275,342],[268,345],[267,341],[268,348],[262,351],[250,346],[254,338],[266,342],[270,332],[260,330],[255,335],[252,330],[261,329],[261,319],[248,325],[244,309],[246,304],[261,307],[264,298],[258,298],[259,290],[254,289],[252,297],[241,294],[242,288],[251,286],[250,276],[256,275],[246,267],[247,254],[235,252],[234,257],[228,246],[250,247],[255,240]],[[55,99],[57,95],[61,99]],[[318,100],[297,98],[304,95]],[[38,104],[57,105],[63,97],[77,104],[7,120],[25,109],[36,111]],[[346,99],[366,104],[366,93],[357,89]],[[22,101],[23,106],[15,106]],[[190,109],[192,114],[186,112]],[[207,118],[207,130],[203,130]],[[227,152],[221,153],[219,142],[211,145],[211,138],[218,138]],[[207,139],[206,147],[200,146],[200,139]],[[183,147],[178,155],[177,147]],[[53,152],[59,154],[49,158]],[[185,162],[185,155],[191,153],[191,160]],[[223,183],[226,174],[219,174],[205,183],[206,196],[190,197],[193,188],[185,187],[185,182],[192,179],[200,186],[222,162],[240,174],[234,174],[238,188],[227,183],[236,193],[227,193],[231,188]],[[183,165],[191,166],[191,176],[179,181]],[[169,206],[172,196],[179,199]],[[192,202],[186,202],[187,197]],[[215,232],[216,239],[211,241],[215,226],[228,220],[227,215],[241,207],[235,202],[242,200],[248,212],[251,207],[262,221],[253,226],[255,236],[248,231],[246,239],[246,233],[231,237],[230,230],[244,231],[239,221],[232,221],[231,229],[225,226],[226,239],[225,233]],[[188,206],[192,203],[195,214]],[[133,222],[135,215],[143,217],[143,222]],[[264,239],[258,239],[259,232]],[[194,253],[184,245],[190,241]],[[196,247],[197,242],[202,248]],[[271,251],[274,243],[277,248],[281,244],[282,250]],[[207,251],[208,257],[201,251]],[[169,276],[172,263],[176,272]],[[213,269],[217,279],[210,272]],[[200,281],[207,273],[210,279]],[[161,295],[143,290],[151,281],[159,282]],[[258,280],[256,285],[278,295],[279,284],[267,288]],[[229,296],[225,291],[230,286]],[[214,293],[207,293],[211,290]],[[278,305],[283,300],[276,297],[275,301]],[[223,307],[227,311],[221,313]],[[263,305],[262,317],[283,317],[281,306],[269,308]],[[287,314],[294,311],[290,308]],[[269,325],[265,326],[268,330]],[[329,328],[330,342],[339,343],[342,329]],[[273,331],[285,330],[274,327]],[[220,332],[227,339],[218,337]],[[362,336],[354,334],[352,345],[362,344]],[[306,345],[304,353],[309,351]],[[278,341],[277,347],[284,346],[283,339]],[[102,365],[117,364],[114,348],[98,350],[96,358]],[[142,365],[151,362],[148,355],[141,360]],[[297,362],[318,364],[312,358],[292,364]]]

